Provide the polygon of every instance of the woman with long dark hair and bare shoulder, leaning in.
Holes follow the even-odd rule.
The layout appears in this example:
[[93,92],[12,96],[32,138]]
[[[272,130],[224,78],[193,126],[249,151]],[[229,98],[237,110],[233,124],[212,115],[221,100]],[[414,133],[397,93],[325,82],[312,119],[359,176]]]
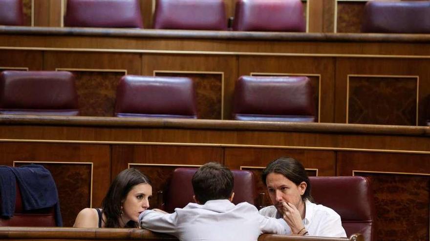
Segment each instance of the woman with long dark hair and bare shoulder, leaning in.
[[134,168],[116,176],[100,208],[85,208],[76,217],[73,227],[140,227],[139,214],[149,208],[152,187],[147,176]]

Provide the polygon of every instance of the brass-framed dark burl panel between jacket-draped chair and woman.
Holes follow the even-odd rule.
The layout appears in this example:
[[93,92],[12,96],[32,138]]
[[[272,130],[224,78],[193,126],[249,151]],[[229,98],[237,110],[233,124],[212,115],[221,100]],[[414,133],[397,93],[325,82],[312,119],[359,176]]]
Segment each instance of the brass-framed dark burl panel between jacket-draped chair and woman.
[[[29,162],[31,163],[31,162]],[[16,167],[29,163],[15,163]],[[71,227],[76,215],[91,206],[91,164],[37,163],[48,169],[57,185],[63,226]]]

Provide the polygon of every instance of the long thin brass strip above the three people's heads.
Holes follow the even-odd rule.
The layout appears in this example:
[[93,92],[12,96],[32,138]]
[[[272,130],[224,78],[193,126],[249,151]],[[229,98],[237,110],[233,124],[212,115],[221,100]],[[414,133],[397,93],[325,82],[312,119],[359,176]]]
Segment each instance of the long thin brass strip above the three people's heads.
[[279,148],[279,149],[303,149],[303,150],[340,150],[382,153],[408,153],[430,154],[430,151],[420,150],[393,150],[393,149],[368,149],[368,148],[330,148],[330,147],[302,147],[302,146],[269,146],[269,145],[240,145],[218,143],[176,143],[176,142],[127,142],[127,141],[71,141],[71,140],[28,140],[28,139],[0,139],[1,142],[22,143],[67,143],[67,144],[105,144],[105,145],[147,145],[147,146],[184,146],[184,147],[226,147],[226,148]]

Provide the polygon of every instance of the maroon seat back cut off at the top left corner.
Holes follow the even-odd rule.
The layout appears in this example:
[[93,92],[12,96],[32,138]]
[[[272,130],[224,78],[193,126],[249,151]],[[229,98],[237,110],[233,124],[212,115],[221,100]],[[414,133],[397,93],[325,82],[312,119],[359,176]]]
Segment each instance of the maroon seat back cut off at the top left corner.
[[0,0],[0,25],[24,25],[22,0]]

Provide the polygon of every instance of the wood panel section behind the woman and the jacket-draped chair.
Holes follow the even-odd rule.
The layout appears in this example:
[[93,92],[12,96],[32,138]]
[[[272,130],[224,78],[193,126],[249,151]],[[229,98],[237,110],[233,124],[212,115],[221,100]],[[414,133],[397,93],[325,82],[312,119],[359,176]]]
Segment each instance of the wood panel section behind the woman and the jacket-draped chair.
[[[52,172],[60,194],[64,225],[73,224],[78,212],[89,207],[91,167],[93,163],[92,202],[100,206],[110,182],[110,150],[102,145],[0,143],[0,165],[24,162],[76,162],[43,164]],[[71,166],[70,166],[71,165]],[[71,199],[71,200],[69,200]]]

